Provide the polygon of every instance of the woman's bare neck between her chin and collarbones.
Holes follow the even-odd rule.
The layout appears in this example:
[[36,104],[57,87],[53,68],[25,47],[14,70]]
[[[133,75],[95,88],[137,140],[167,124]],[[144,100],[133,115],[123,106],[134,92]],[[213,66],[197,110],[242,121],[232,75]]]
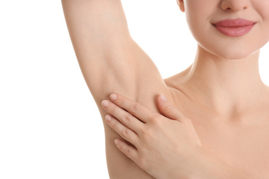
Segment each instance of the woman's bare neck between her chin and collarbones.
[[219,114],[246,112],[266,92],[259,75],[259,51],[245,59],[222,59],[199,47],[186,70],[192,97]]

